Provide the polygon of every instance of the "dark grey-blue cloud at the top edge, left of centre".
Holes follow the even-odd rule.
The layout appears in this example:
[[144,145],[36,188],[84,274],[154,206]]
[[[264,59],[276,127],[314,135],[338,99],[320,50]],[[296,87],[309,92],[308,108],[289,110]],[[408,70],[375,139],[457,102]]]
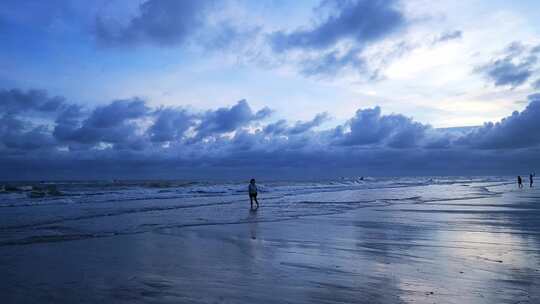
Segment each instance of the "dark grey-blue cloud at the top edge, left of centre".
[[139,15],[125,26],[114,25],[98,17],[97,38],[111,46],[179,45],[202,26],[205,10],[212,2],[148,0],[139,6]]

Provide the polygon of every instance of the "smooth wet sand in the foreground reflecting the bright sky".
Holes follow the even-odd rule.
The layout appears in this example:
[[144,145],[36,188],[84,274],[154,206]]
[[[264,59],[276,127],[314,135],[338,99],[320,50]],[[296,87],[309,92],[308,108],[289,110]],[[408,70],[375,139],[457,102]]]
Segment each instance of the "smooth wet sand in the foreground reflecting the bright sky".
[[[2,303],[540,303],[540,190],[507,188],[309,216],[271,215],[285,207],[263,196],[257,212],[227,206],[235,220],[176,224],[164,215],[174,208],[90,217],[87,230],[147,228],[4,241]],[[60,224],[30,229],[40,225]]]

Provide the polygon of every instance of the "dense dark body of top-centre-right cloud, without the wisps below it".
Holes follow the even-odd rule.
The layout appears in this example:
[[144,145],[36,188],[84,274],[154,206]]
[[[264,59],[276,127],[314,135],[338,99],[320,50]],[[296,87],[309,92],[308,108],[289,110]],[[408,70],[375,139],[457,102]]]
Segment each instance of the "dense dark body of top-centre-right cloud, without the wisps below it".
[[290,49],[327,49],[348,39],[363,46],[384,38],[405,25],[397,1],[358,0],[323,1],[321,7],[332,13],[309,29],[272,34],[272,47],[277,52]]

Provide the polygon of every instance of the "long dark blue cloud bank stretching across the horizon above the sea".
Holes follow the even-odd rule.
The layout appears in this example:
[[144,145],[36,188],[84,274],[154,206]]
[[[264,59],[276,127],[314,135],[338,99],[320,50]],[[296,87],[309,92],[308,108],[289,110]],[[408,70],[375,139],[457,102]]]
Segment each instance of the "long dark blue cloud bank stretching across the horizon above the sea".
[[455,130],[379,107],[332,128],[326,113],[296,122],[271,115],[245,100],[201,112],[138,98],[90,109],[44,91],[2,90],[0,178],[514,174],[540,165],[540,94],[500,122]]

